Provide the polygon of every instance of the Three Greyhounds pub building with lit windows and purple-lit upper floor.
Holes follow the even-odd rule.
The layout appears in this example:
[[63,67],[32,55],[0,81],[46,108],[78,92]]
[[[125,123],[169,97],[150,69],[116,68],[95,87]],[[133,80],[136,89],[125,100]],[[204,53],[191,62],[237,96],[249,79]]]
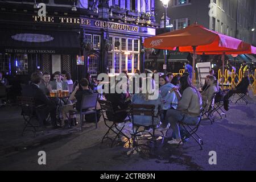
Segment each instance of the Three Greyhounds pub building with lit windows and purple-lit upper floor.
[[154,6],[155,0],[0,1],[0,71],[27,83],[37,69],[65,70],[73,80],[143,70],[143,40],[159,26]]

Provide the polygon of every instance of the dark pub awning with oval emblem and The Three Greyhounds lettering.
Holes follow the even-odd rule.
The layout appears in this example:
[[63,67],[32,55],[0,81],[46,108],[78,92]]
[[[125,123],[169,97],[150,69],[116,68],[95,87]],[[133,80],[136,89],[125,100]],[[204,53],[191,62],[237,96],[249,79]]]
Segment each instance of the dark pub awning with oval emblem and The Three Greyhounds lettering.
[[39,30],[0,30],[1,53],[77,54],[77,32]]

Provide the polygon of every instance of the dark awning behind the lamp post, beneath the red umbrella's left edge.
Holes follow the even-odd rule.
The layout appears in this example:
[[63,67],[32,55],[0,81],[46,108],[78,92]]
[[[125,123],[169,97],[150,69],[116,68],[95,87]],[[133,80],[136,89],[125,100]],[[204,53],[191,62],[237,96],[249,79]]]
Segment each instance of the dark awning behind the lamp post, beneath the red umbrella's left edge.
[[[152,55],[146,56],[145,61],[164,61],[163,50],[156,49]],[[185,62],[188,61],[189,52],[167,51],[166,59],[168,62]]]

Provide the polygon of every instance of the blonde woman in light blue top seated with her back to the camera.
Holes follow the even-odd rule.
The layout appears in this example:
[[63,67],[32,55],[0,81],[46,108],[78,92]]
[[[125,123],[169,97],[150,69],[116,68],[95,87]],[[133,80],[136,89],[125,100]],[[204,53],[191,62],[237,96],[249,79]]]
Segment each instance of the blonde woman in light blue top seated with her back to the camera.
[[[153,94],[148,93],[148,89],[146,89],[146,93],[142,93],[142,86],[140,85],[140,93],[134,94],[132,98],[132,104],[148,104],[155,105],[155,115],[158,114],[158,108],[160,110],[163,108],[162,96],[158,94],[158,98],[154,99]],[[160,117],[154,118],[154,125],[158,125],[160,122]],[[152,125],[152,117],[145,115],[134,115],[134,123],[143,126],[151,126]]]

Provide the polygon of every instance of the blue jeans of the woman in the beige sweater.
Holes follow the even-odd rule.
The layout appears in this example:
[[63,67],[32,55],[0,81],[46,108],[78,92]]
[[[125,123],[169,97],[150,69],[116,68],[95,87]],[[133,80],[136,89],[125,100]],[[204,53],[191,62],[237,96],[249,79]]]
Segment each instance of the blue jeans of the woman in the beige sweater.
[[174,130],[174,134],[176,139],[181,139],[180,137],[180,128],[178,125],[179,121],[183,121],[184,123],[196,125],[200,120],[200,117],[191,117],[179,110],[169,109],[166,113],[166,119],[164,123],[170,123],[172,130]]

